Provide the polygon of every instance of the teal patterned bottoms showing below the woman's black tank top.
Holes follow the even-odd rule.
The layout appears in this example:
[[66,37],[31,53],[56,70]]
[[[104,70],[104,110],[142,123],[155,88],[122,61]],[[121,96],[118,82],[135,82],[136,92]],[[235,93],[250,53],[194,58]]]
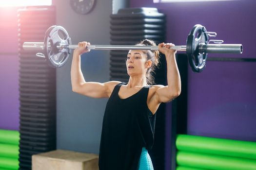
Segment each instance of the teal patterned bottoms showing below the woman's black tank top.
[[154,170],[151,158],[146,148],[142,148],[138,162],[138,170]]

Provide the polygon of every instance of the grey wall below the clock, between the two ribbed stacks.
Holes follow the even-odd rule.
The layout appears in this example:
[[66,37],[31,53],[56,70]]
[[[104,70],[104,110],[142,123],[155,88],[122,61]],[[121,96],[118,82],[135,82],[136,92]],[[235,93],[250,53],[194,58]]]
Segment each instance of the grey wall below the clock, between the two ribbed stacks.
[[[112,0],[97,0],[87,15],[75,13],[69,0],[54,0],[57,25],[63,26],[72,44],[89,41],[109,44]],[[92,99],[72,92],[70,81],[72,55],[57,69],[57,149],[98,153],[102,119],[107,99]],[[109,51],[91,51],[82,55],[81,68],[86,81],[109,81]]]

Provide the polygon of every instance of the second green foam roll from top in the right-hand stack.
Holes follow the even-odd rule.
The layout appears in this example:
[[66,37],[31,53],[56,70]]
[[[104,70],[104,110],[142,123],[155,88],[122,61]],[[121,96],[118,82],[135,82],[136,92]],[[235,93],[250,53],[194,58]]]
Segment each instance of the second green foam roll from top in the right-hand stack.
[[209,170],[256,170],[254,159],[218,156],[204,153],[177,152],[179,166]]

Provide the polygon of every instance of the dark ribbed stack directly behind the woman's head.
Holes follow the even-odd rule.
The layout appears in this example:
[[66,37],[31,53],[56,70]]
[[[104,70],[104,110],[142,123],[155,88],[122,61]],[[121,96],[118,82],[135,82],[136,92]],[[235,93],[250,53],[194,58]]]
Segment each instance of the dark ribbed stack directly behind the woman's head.
[[[110,16],[111,45],[135,45],[143,39],[164,41],[165,16],[157,8],[124,8]],[[128,81],[125,59],[128,51],[110,51],[110,80]]]

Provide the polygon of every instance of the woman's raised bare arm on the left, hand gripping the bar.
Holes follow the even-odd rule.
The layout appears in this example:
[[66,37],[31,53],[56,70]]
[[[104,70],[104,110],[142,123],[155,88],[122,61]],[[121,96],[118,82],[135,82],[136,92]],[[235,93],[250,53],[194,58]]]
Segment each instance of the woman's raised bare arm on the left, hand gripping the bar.
[[111,81],[106,83],[86,82],[81,71],[81,54],[89,52],[86,46],[90,45],[87,42],[79,43],[79,47],[73,52],[73,59],[71,65],[71,84],[72,90],[76,93],[93,97],[93,98],[107,98],[111,95],[115,85],[120,82]]

